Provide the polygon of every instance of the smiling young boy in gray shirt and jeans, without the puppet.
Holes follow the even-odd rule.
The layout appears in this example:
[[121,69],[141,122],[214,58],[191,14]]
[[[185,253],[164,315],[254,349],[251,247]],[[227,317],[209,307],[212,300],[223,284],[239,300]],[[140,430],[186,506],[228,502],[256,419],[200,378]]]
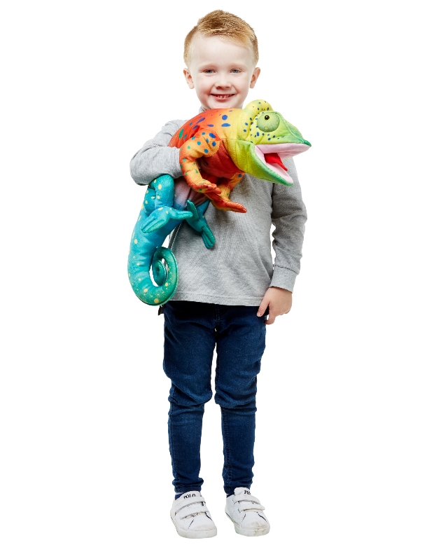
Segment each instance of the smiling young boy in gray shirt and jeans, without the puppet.
[[[200,111],[242,108],[260,69],[253,29],[237,16],[216,10],[197,22],[185,41],[184,76]],[[179,150],[168,147],[183,120],[169,121],[132,158],[132,178],[148,184],[160,176],[181,176]],[[233,191],[246,214],[209,205],[205,214],[216,236],[213,249],[181,224],[170,247],[179,265],[179,287],[166,303],[164,370],[169,394],[169,449],[175,499],[170,512],[182,537],[216,535],[201,495],[200,441],[204,403],[211,392],[216,347],[215,402],[221,407],[225,512],[239,534],[269,532],[263,506],[250,492],[253,481],[255,393],[265,349],[265,324],[291,308],[300,271],[307,219],[293,160],[285,160],[294,184],[270,184],[248,174]],[[270,230],[274,224],[273,267]],[[269,317],[266,319],[266,315]]]

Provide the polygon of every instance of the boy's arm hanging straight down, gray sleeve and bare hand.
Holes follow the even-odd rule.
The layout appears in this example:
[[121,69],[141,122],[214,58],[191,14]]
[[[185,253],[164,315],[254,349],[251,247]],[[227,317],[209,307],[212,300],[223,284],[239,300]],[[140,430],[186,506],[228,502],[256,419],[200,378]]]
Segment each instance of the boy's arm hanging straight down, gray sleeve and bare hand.
[[258,310],[258,316],[262,316],[269,307],[269,317],[265,324],[273,324],[277,316],[290,311],[295,278],[300,272],[304,223],[307,221],[294,161],[290,158],[283,160],[283,163],[294,184],[289,187],[273,184],[272,223],[275,230],[272,233],[272,247],[276,258],[271,286]]

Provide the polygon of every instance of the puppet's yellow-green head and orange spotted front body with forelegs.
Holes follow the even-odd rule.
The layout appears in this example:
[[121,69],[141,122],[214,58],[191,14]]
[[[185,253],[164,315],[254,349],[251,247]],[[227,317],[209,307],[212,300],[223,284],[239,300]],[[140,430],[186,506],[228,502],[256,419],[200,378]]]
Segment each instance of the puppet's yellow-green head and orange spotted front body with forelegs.
[[210,109],[188,120],[169,146],[180,149],[179,162],[190,188],[206,195],[217,209],[244,213],[230,200],[232,189],[248,172],[290,186],[293,180],[280,156],[297,155],[311,144],[265,100],[244,109]]

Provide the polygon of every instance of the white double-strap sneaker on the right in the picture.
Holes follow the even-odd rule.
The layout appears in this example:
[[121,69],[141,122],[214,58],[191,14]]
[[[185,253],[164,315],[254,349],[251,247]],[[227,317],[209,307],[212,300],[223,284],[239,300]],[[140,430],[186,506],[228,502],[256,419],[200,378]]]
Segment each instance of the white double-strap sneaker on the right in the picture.
[[235,494],[227,497],[225,513],[235,524],[235,531],[246,537],[269,533],[269,521],[262,510],[265,506],[246,487],[235,488]]

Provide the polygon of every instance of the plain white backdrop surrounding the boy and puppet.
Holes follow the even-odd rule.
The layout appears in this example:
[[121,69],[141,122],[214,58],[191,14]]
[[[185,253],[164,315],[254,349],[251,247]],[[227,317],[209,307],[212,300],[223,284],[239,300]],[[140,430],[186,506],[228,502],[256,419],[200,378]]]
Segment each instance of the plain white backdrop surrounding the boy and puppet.
[[[5,552],[440,551],[440,97],[435,3],[10,4],[1,52],[0,547]],[[223,513],[220,413],[203,492],[169,520],[162,318],[132,293],[132,155],[197,113],[182,45],[223,8],[258,35],[263,97],[313,145],[293,309],[267,331],[253,493]],[[235,261],[235,259],[232,259]]]

